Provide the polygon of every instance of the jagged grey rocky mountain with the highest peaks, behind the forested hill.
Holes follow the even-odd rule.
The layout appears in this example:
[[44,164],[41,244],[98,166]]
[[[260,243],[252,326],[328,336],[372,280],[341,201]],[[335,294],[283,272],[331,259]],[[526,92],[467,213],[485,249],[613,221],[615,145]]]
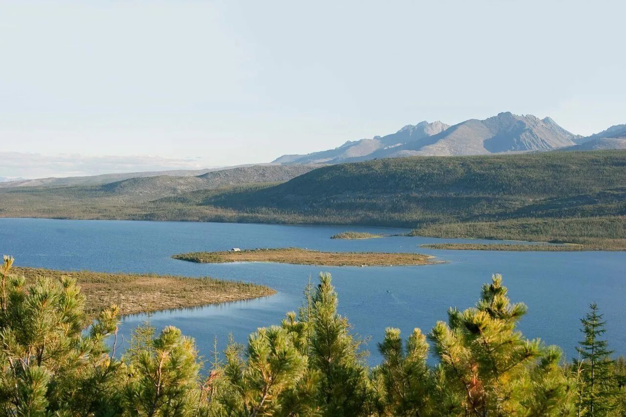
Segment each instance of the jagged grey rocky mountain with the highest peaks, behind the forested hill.
[[575,145],[582,136],[563,129],[552,118],[500,113],[485,120],[471,119],[448,126],[441,121],[404,126],[387,136],[346,142],[339,148],[284,155],[275,163],[357,162],[416,155],[486,155],[502,152],[552,150]]

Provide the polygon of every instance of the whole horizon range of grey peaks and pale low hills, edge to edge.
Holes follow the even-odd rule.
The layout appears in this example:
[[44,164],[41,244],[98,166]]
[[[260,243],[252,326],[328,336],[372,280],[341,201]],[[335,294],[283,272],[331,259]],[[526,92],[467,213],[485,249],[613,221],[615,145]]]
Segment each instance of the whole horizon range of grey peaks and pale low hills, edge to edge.
[[[321,165],[342,162],[421,156],[488,155],[550,150],[585,151],[626,149],[626,124],[590,136],[575,135],[552,118],[499,113],[485,120],[470,119],[450,126],[441,121],[406,125],[396,133],[348,141],[338,148],[306,155],[283,155],[272,163],[170,170],[108,173],[87,177],[4,178],[0,189],[16,187],[105,186],[140,195],[172,195],[242,183],[282,182]],[[304,165],[302,169],[280,169]]]

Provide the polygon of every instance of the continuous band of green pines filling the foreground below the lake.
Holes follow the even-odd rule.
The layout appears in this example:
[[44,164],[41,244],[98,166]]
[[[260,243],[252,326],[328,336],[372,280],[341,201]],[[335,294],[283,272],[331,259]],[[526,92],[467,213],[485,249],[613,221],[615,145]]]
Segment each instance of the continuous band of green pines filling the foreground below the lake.
[[[308,285],[298,314],[259,329],[247,346],[228,344],[207,372],[193,339],[175,327],[136,330],[118,358],[119,309],[100,312],[83,332],[85,296],[68,277],[30,286],[0,269],[0,411],[44,416],[608,416],[626,412],[626,366],[610,358],[592,304],[582,320],[580,358],[516,329],[500,276],[475,307],[450,309],[428,335],[404,341],[389,328],[380,366],[369,369],[360,340],[337,314],[328,274]],[[430,342],[430,344],[429,344]],[[437,359],[429,366],[429,349]]]

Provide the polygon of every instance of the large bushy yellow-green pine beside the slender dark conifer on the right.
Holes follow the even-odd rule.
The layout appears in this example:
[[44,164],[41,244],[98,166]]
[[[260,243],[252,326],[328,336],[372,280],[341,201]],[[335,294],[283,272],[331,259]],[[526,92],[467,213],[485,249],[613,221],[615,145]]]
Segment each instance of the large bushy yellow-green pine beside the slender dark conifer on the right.
[[[571,381],[558,367],[558,348],[543,348],[515,329],[526,313],[511,304],[494,275],[476,307],[448,312],[429,338],[441,363],[439,395],[459,401],[467,416],[567,415]],[[453,393],[451,395],[450,393]]]

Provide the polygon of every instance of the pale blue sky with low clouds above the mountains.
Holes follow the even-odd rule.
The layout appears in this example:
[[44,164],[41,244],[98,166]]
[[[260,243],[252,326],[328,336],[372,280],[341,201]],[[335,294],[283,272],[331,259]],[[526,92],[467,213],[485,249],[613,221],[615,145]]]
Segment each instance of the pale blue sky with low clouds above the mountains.
[[0,0],[0,176],[270,162],[501,111],[589,135],[626,123],[623,16],[621,0]]

